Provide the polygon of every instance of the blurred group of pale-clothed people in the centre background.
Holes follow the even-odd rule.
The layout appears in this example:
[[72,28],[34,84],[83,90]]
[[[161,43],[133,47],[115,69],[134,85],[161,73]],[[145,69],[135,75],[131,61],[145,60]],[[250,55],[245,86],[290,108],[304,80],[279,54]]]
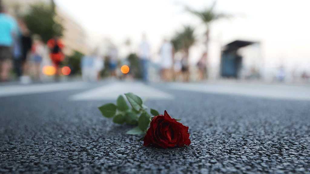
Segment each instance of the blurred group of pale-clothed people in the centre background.
[[[138,49],[125,59],[121,59],[118,52],[117,47],[111,44],[104,56],[100,56],[98,49],[95,49],[90,55],[84,55],[81,61],[82,79],[96,81],[104,76],[117,79],[135,78],[149,82],[150,77],[154,77],[155,74],[162,81],[190,81],[188,54],[184,50],[175,52],[172,42],[167,39],[163,39],[158,51],[160,59],[158,63],[154,63],[151,59],[151,45],[145,34],[142,35]],[[198,80],[206,78],[206,59],[206,53],[202,54],[195,68]],[[122,72],[123,65],[129,66],[130,71]],[[150,71],[152,72],[150,73]]]

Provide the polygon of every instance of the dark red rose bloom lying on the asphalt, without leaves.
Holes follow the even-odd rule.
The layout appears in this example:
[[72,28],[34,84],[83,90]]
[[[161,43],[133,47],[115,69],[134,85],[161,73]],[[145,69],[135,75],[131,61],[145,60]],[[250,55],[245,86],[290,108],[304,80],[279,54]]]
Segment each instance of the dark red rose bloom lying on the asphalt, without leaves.
[[144,146],[157,145],[162,148],[189,145],[188,127],[171,118],[165,111],[157,115],[150,123],[150,128],[144,137]]

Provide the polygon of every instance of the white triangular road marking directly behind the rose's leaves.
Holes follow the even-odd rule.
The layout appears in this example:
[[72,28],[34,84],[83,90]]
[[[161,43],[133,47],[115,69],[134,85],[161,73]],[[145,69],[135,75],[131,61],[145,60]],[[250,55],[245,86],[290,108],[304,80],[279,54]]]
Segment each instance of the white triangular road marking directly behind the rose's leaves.
[[120,94],[132,92],[143,99],[173,99],[173,96],[139,82],[116,82],[71,96],[70,100],[116,99]]

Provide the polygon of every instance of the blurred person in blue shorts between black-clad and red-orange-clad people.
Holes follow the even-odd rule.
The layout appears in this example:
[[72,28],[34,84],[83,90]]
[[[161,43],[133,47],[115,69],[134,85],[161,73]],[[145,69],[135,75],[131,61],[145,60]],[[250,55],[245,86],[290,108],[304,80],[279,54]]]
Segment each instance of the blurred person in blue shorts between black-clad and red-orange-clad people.
[[32,58],[34,63],[34,72],[35,72],[35,79],[40,80],[40,74],[41,74],[41,63],[42,59],[45,53],[44,50],[44,44],[41,40],[41,37],[38,35],[35,35],[33,37],[33,46],[31,48],[32,51]]

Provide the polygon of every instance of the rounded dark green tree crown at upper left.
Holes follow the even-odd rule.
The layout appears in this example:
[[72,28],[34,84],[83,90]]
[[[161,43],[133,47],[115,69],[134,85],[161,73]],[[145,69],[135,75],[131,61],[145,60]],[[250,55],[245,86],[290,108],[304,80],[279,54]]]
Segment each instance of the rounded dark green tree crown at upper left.
[[38,34],[44,42],[52,37],[62,36],[63,26],[55,21],[55,13],[46,3],[40,2],[30,6],[30,11],[24,16],[27,27],[33,34]]

